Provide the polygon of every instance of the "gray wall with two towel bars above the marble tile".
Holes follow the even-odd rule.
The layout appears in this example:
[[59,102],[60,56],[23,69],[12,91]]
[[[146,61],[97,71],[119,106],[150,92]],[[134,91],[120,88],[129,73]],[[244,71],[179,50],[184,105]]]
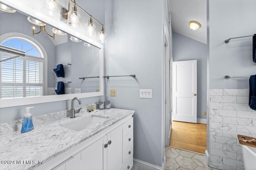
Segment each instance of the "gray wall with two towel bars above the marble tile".
[[[220,5],[221,4],[221,5]],[[252,37],[256,33],[255,0],[210,0],[210,89],[248,88],[248,78],[226,80],[224,76],[256,74],[252,61]]]

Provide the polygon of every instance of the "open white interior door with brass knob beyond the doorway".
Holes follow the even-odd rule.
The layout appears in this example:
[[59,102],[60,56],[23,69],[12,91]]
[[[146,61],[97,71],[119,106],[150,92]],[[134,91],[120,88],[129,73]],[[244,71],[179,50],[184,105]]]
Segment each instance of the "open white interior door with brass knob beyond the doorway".
[[196,60],[173,62],[172,120],[196,123]]

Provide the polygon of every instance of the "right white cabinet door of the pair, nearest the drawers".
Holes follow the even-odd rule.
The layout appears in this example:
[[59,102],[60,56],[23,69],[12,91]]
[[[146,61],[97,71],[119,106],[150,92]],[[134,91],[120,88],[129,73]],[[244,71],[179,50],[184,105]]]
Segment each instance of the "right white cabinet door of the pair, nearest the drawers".
[[122,125],[107,134],[108,137],[108,170],[121,170],[123,167],[123,128]]

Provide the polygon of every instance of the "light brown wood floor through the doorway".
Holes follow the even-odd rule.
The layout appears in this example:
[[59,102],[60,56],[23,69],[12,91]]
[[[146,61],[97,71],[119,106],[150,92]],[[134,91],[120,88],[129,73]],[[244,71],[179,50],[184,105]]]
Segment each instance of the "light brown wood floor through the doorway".
[[172,121],[170,147],[204,154],[206,141],[206,124]]

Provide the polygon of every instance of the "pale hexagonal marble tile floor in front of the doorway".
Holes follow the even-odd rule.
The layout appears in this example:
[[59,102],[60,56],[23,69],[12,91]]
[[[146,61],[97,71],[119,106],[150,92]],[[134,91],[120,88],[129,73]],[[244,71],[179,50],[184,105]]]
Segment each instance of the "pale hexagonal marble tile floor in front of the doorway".
[[207,166],[204,155],[186,150],[165,147],[165,170],[217,170]]

